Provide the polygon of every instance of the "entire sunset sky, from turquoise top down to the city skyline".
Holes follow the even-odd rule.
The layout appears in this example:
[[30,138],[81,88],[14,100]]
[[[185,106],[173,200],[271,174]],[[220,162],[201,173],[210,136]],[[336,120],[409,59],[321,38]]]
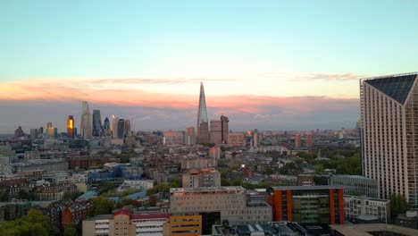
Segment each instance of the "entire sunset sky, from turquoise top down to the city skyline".
[[359,78],[418,71],[418,1],[0,1],[0,133],[79,126],[81,101],[136,130],[352,128]]

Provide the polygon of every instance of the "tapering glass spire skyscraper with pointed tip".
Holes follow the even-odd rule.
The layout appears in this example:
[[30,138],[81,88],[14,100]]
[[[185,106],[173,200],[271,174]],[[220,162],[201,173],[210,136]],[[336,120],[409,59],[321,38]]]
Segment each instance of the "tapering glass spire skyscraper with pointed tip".
[[207,119],[205,88],[200,83],[199,107],[197,110],[197,143],[209,143],[209,122]]

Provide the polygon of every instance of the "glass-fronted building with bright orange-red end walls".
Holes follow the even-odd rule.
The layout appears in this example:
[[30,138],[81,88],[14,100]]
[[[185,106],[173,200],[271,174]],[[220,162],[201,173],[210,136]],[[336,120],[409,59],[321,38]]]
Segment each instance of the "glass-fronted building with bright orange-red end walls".
[[274,221],[343,224],[344,192],[332,186],[280,186],[267,189]]

